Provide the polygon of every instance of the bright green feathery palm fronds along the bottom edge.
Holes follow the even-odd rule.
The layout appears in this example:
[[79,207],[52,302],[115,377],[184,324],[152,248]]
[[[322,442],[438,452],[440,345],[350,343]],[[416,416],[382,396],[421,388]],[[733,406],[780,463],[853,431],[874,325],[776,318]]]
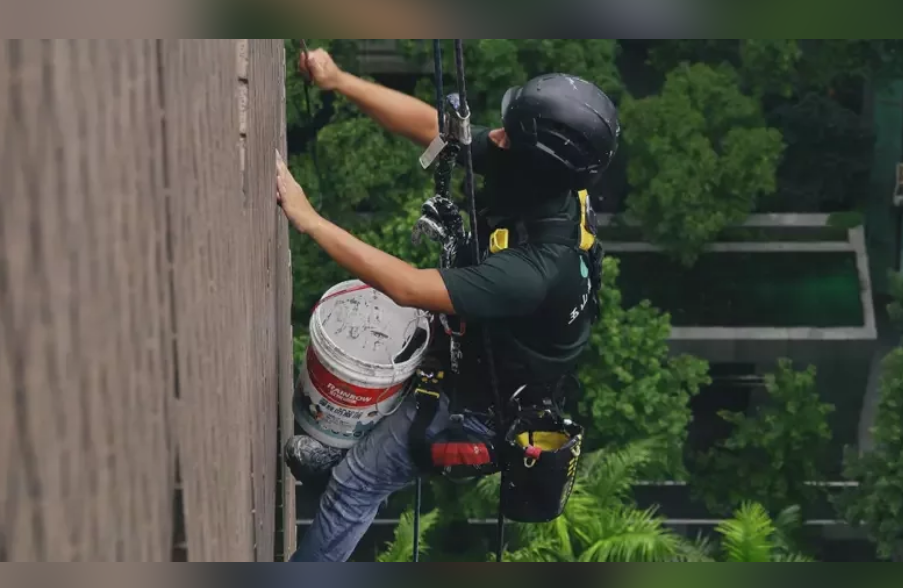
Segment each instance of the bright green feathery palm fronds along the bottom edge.
[[[655,461],[654,444],[635,443],[619,451],[584,454],[578,479],[564,513],[541,524],[509,524],[509,563],[527,562],[808,562],[795,549],[793,533],[800,523],[799,509],[789,507],[772,519],[764,507],[744,502],[717,528],[718,540],[695,541],[664,525],[655,508],[639,508],[631,489],[640,472]],[[472,486],[462,500],[470,516],[487,517],[495,509],[499,476]],[[436,528],[441,513],[425,515],[421,545],[429,548],[427,533]],[[395,540],[377,558],[380,562],[410,561],[413,519],[402,516]],[[431,561],[443,561],[433,550]],[[495,555],[488,557],[494,561]]]

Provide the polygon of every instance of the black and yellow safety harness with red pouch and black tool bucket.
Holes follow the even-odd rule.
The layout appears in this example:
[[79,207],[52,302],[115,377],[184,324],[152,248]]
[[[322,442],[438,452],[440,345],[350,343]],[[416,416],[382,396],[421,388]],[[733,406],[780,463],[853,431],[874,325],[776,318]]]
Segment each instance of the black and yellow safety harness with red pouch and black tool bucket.
[[[586,191],[580,191],[580,218],[552,217],[502,222],[490,234],[489,254],[527,244],[558,244],[577,249],[590,268],[592,295],[588,304],[594,320],[601,286],[601,246],[595,237],[595,216]],[[565,378],[562,378],[564,380]],[[561,381],[556,388],[560,388]],[[560,389],[533,390],[524,385],[506,405],[497,407],[502,425],[497,438],[474,434],[452,420],[438,435],[427,437],[442,401],[450,395],[446,373],[439,362],[424,362],[415,374],[413,392],[417,412],[409,432],[411,455],[424,473],[465,480],[502,471],[499,507],[504,518],[517,522],[544,522],[561,514],[576,474],[583,429],[561,415]],[[526,391],[526,393],[525,393]],[[527,398],[528,403],[522,403]]]

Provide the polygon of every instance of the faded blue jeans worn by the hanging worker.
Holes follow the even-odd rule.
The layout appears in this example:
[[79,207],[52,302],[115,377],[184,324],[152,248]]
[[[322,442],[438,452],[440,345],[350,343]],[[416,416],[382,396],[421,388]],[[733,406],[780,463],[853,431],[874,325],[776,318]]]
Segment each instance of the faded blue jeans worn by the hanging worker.
[[[408,430],[415,413],[411,395],[333,468],[313,524],[289,561],[348,561],[376,518],[380,504],[416,479],[417,470],[408,451]],[[445,429],[448,421],[448,399],[443,396],[427,436]],[[473,415],[465,414],[464,426],[477,434],[491,434]]]

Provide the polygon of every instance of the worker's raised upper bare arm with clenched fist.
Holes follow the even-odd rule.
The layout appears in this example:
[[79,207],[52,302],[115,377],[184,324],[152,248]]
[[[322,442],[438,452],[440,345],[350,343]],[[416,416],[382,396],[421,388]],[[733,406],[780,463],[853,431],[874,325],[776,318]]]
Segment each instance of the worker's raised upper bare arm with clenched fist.
[[439,134],[436,109],[413,96],[343,71],[323,49],[301,53],[299,69],[323,90],[336,91],[383,128],[426,147]]

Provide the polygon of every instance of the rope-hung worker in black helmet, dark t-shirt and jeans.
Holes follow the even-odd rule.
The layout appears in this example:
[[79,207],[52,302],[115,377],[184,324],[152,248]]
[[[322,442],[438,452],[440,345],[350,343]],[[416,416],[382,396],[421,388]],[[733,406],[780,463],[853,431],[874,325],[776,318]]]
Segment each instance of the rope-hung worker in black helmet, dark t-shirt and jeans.
[[[300,69],[321,90],[338,92],[383,128],[421,147],[439,135],[433,106],[343,71],[322,49],[302,55]],[[365,244],[318,214],[285,163],[277,161],[277,202],[298,231],[396,304],[464,321],[461,375],[454,390],[455,402],[463,407],[454,414],[463,419],[451,418],[449,396],[443,394],[429,422],[421,423],[418,441],[427,444],[441,438],[452,420],[470,440],[491,445],[495,438],[491,415],[498,407],[493,406],[481,329],[492,335],[501,395],[507,399],[520,389],[524,396],[542,396],[573,376],[598,313],[601,258],[595,248],[576,244],[581,230],[594,232],[589,203],[576,194],[615,154],[617,110],[598,87],[564,74],[540,76],[500,98],[502,124],[474,126],[471,154],[474,172],[485,180],[477,195],[479,243],[485,250],[490,235],[507,228],[507,248],[484,252],[483,259],[468,259],[460,267],[418,269]],[[434,220],[454,225],[449,213],[456,216],[455,210],[440,208],[442,218]],[[581,225],[587,213],[590,219]],[[543,242],[539,229],[526,234],[547,220],[566,226],[576,241]],[[461,252],[460,257],[468,256]],[[445,373],[444,355],[431,351],[418,372],[424,382]],[[291,561],[347,561],[385,499],[430,469],[422,459],[435,451],[424,453],[411,439],[417,411],[417,399],[408,396],[332,469]]]

